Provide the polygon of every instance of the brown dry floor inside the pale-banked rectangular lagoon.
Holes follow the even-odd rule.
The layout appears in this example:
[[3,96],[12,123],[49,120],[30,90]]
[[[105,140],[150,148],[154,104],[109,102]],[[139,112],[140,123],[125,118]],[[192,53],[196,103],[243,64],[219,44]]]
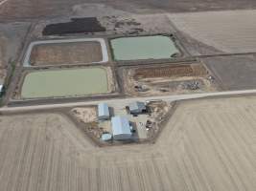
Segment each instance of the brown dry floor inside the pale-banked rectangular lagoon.
[[33,66],[81,64],[102,61],[99,42],[76,42],[36,45],[31,53]]

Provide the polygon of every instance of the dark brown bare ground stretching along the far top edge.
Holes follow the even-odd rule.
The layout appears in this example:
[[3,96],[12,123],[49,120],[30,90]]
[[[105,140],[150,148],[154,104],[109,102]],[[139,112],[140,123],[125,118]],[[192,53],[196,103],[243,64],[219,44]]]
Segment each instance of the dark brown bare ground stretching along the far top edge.
[[117,10],[136,13],[182,12],[182,11],[220,11],[256,8],[254,0],[9,0],[0,7],[0,18],[36,19],[40,17],[67,16],[73,14],[74,7],[86,3],[99,3]]

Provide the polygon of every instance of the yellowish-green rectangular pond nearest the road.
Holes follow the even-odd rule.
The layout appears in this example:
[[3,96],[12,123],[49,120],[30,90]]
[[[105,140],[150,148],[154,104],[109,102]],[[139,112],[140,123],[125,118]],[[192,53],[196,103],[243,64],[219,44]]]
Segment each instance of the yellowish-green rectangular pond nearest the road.
[[27,74],[21,97],[87,96],[107,92],[104,68],[65,69]]

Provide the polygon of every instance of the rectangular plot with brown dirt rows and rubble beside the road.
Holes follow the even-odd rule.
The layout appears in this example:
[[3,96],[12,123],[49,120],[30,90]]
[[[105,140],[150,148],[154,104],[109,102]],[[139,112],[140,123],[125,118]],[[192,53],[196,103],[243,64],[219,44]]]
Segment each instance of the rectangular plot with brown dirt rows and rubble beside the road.
[[119,74],[130,96],[210,92],[217,88],[202,64],[122,68]]

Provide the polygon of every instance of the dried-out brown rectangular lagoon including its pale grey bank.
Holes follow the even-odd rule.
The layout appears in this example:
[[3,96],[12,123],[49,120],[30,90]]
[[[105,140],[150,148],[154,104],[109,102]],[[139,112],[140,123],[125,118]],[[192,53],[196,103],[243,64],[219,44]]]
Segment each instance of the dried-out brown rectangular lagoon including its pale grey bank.
[[40,40],[30,44],[24,67],[105,63],[107,48],[103,38]]

